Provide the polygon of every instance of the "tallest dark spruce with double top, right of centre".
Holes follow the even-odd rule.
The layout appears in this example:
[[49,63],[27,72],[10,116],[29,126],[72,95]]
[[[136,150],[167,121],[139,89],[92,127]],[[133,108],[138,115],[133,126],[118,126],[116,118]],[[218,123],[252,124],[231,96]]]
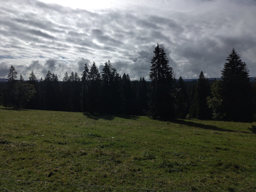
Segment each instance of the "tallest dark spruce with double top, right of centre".
[[155,56],[151,60],[151,91],[148,115],[154,118],[174,118],[174,72],[164,48],[155,47]]

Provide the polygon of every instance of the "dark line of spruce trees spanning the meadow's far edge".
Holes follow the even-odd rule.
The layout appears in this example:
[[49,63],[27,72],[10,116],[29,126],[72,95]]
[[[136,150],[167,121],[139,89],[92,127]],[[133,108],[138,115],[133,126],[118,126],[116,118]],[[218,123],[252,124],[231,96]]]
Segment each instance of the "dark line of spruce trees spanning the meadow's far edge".
[[[256,83],[250,82],[246,63],[233,49],[221,71],[221,80],[208,80],[201,71],[198,81],[175,78],[165,49],[155,47],[150,81],[130,80],[117,73],[110,60],[102,72],[96,63],[84,65],[83,72],[65,73],[62,81],[47,72],[37,79],[17,80],[9,67],[7,83],[0,83],[0,104],[14,108],[148,115],[153,118],[197,118],[251,122],[255,119]],[[89,69],[89,68],[90,69]]]

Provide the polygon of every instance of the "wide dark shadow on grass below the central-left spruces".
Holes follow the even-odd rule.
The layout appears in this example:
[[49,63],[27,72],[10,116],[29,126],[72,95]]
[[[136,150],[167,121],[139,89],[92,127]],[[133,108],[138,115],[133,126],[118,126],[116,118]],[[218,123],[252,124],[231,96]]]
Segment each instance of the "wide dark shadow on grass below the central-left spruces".
[[113,120],[115,117],[123,118],[123,119],[131,119],[131,120],[137,120],[139,116],[136,115],[109,115],[109,114],[99,114],[99,113],[83,113],[84,116],[87,116],[90,119],[99,120],[99,119],[105,119],[105,120]]

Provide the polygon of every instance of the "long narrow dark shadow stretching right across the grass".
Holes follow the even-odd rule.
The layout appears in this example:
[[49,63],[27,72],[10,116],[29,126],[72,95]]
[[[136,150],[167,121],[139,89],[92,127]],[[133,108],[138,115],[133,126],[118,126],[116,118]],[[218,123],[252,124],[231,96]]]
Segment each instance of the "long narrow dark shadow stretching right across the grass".
[[206,125],[206,124],[202,124],[202,123],[184,121],[182,119],[174,119],[174,120],[171,120],[171,122],[182,124],[182,125],[187,125],[187,126],[191,126],[191,127],[199,127],[201,129],[214,130],[214,131],[226,131],[226,132],[234,132],[234,133],[250,133],[250,132],[247,132],[247,131],[236,131],[236,130],[232,130],[232,129],[223,129],[223,128],[220,128],[220,127],[217,127],[217,126],[214,126],[214,125]]

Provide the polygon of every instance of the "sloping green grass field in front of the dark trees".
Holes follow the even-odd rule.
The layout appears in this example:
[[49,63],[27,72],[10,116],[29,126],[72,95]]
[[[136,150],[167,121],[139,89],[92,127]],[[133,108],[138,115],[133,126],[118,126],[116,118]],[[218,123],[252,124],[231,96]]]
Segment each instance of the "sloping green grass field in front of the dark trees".
[[[0,107],[0,178],[177,191],[255,191],[256,134],[249,126]],[[0,180],[0,191],[145,190]]]

